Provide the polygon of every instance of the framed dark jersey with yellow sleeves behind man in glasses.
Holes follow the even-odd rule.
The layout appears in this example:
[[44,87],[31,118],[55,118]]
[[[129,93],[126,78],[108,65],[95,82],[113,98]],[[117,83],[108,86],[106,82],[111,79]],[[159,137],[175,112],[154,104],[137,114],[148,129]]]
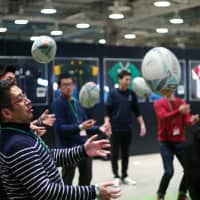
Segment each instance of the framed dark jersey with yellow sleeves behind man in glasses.
[[[74,97],[78,98],[79,91],[85,83],[93,81],[98,84],[98,66],[98,58],[57,57],[53,64],[54,81],[57,82],[62,73],[71,75],[75,80]],[[54,94],[55,97],[59,95],[57,87],[54,88]]]

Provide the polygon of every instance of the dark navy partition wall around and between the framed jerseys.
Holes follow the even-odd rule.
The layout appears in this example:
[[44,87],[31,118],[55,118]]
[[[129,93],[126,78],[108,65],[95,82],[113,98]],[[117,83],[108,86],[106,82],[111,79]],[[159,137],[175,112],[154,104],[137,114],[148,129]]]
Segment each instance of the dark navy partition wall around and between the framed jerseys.
[[[19,42],[19,41],[0,41],[0,56],[31,56],[31,42]],[[72,44],[72,43],[57,43],[58,51],[57,57],[96,57],[99,58],[99,82],[101,91],[101,103],[97,105],[93,110],[87,110],[88,115],[97,119],[98,124],[103,122],[103,58],[136,58],[142,59],[144,54],[148,51],[148,48],[141,47],[117,47],[117,46],[103,46],[103,45],[88,45],[88,44]],[[171,49],[178,59],[184,59],[186,62],[186,100],[192,106],[192,113],[200,113],[199,101],[190,102],[189,100],[189,60],[200,60],[199,49]],[[52,63],[48,64],[48,105],[36,106],[35,117],[49,107],[53,100],[52,89]],[[147,135],[144,138],[139,137],[138,125],[135,125],[134,137],[131,152],[132,154],[153,153],[158,151],[158,142],[156,139],[157,129],[155,114],[153,111],[152,103],[146,101],[140,103],[141,112],[144,116],[147,125]],[[49,146],[54,146],[54,133],[53,129],[49,129],[48,134],[44,136],[44,139]]]

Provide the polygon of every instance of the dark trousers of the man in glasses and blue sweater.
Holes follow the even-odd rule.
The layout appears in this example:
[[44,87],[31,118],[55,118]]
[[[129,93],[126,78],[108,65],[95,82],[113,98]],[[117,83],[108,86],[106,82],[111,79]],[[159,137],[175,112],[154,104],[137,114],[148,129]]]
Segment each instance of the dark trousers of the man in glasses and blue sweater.
[[92,158],[81,160],[76,166],[62,168],[62,177],[65,185],[72,185],[76,167],[79,170],[79,185],[90,185],[92,179]]

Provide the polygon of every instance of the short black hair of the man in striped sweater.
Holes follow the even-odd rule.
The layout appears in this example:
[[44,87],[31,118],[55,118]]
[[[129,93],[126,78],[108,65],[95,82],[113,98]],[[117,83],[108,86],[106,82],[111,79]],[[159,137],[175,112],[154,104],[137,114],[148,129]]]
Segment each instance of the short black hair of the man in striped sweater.
[[13,80],[0,80],[0,121],[2,121],[2,113],[1,110],[3,108],[11,108],[11,94],[10,88],[15,85]]

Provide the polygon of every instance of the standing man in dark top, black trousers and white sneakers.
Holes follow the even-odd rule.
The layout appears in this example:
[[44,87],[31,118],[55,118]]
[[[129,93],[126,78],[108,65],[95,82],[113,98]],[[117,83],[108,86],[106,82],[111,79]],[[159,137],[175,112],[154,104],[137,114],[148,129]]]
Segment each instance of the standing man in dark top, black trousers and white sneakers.
[[[139,112],[139,105],[136,94],[128,87],[131,81],[131,73],[122,70],[118,74],[119,88],[110,91],[106,102],[105,124],[111,125],[111,164],[114,174],[115,186],[120,182],[135,185],[136,182],[128,177],[129,147],[132,140],[133,113],[140,125],[140,135],[146,134],[146,127],[142,115]],[[122,174],[118,173],[119,150],[122,155]],[[120,180],[121,178],[121,180]]]

